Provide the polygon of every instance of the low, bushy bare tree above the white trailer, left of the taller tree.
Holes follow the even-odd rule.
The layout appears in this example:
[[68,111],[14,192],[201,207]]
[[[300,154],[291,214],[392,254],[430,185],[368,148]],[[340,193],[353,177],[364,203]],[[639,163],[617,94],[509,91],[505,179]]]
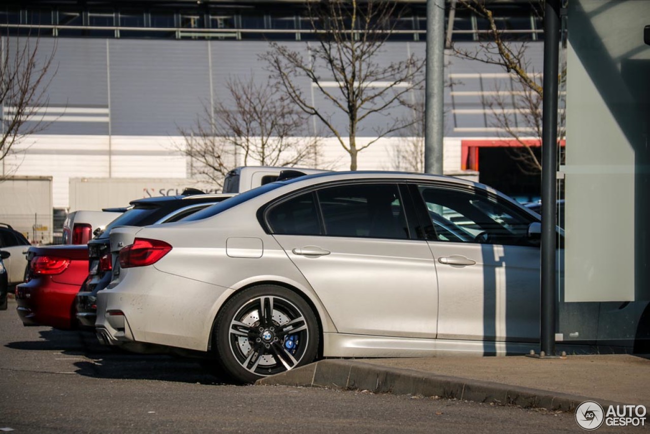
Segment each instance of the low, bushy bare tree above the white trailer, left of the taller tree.
[[307,133],[307,116],[269,81],[231,78],[228,98],[204,105],[194,126],[180,130],[179,149],[192,171],[222,185],[239,165],[315,165],[318,139]]

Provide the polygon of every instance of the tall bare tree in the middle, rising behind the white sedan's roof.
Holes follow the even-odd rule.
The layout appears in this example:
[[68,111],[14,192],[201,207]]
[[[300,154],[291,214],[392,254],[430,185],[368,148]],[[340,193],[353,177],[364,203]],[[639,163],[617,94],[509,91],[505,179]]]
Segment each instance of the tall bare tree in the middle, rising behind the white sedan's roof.
[[[404,12],[399,2],[308,1],[305,8],[317,36],[308,46],[309,56],[270,42],[270,51],[261,58],[296,106],[317,116],[336,137],[350,155],[350,169],[356,170],[359,152],[413,123],[395,116],[395,111],[409,107],[409,92],[422,86],[424,61],[411,54],[404,61],[381,62],[382,47]],[[317,106],[303,94],[300,83],[305,78],[331,108]],[[345,131],[332,120],[333,113],[341,112],[347,120]],[[383,126],[373,129],[370,141],[358,143],[357,133],[374,116]]]

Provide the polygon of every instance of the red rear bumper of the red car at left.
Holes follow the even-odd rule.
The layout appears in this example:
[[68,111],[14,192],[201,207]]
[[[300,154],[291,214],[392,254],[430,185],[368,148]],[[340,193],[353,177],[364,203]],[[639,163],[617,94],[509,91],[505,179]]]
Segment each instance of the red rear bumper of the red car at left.
[[23,325],[75,329],[74,302],[78,291],[76,284],[53,282],[49,277],[35,278],[16,286],[16,311]]

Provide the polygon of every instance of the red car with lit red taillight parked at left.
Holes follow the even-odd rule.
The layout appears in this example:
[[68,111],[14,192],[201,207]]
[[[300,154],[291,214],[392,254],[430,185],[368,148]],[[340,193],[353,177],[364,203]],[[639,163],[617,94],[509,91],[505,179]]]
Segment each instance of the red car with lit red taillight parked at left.
[[77,327],[75,297],[88,276],[87,245],[30,247],[25,283],[16,286],[24,325]]

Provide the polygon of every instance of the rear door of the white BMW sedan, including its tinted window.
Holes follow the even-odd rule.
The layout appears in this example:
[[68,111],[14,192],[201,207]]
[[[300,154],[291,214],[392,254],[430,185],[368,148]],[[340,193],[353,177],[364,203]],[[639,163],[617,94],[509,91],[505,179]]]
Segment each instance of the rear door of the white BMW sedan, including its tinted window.
[[265,216],[339,332],[435,337],[433,257],[409,228],[396,183],[318,188],[273,204]]

